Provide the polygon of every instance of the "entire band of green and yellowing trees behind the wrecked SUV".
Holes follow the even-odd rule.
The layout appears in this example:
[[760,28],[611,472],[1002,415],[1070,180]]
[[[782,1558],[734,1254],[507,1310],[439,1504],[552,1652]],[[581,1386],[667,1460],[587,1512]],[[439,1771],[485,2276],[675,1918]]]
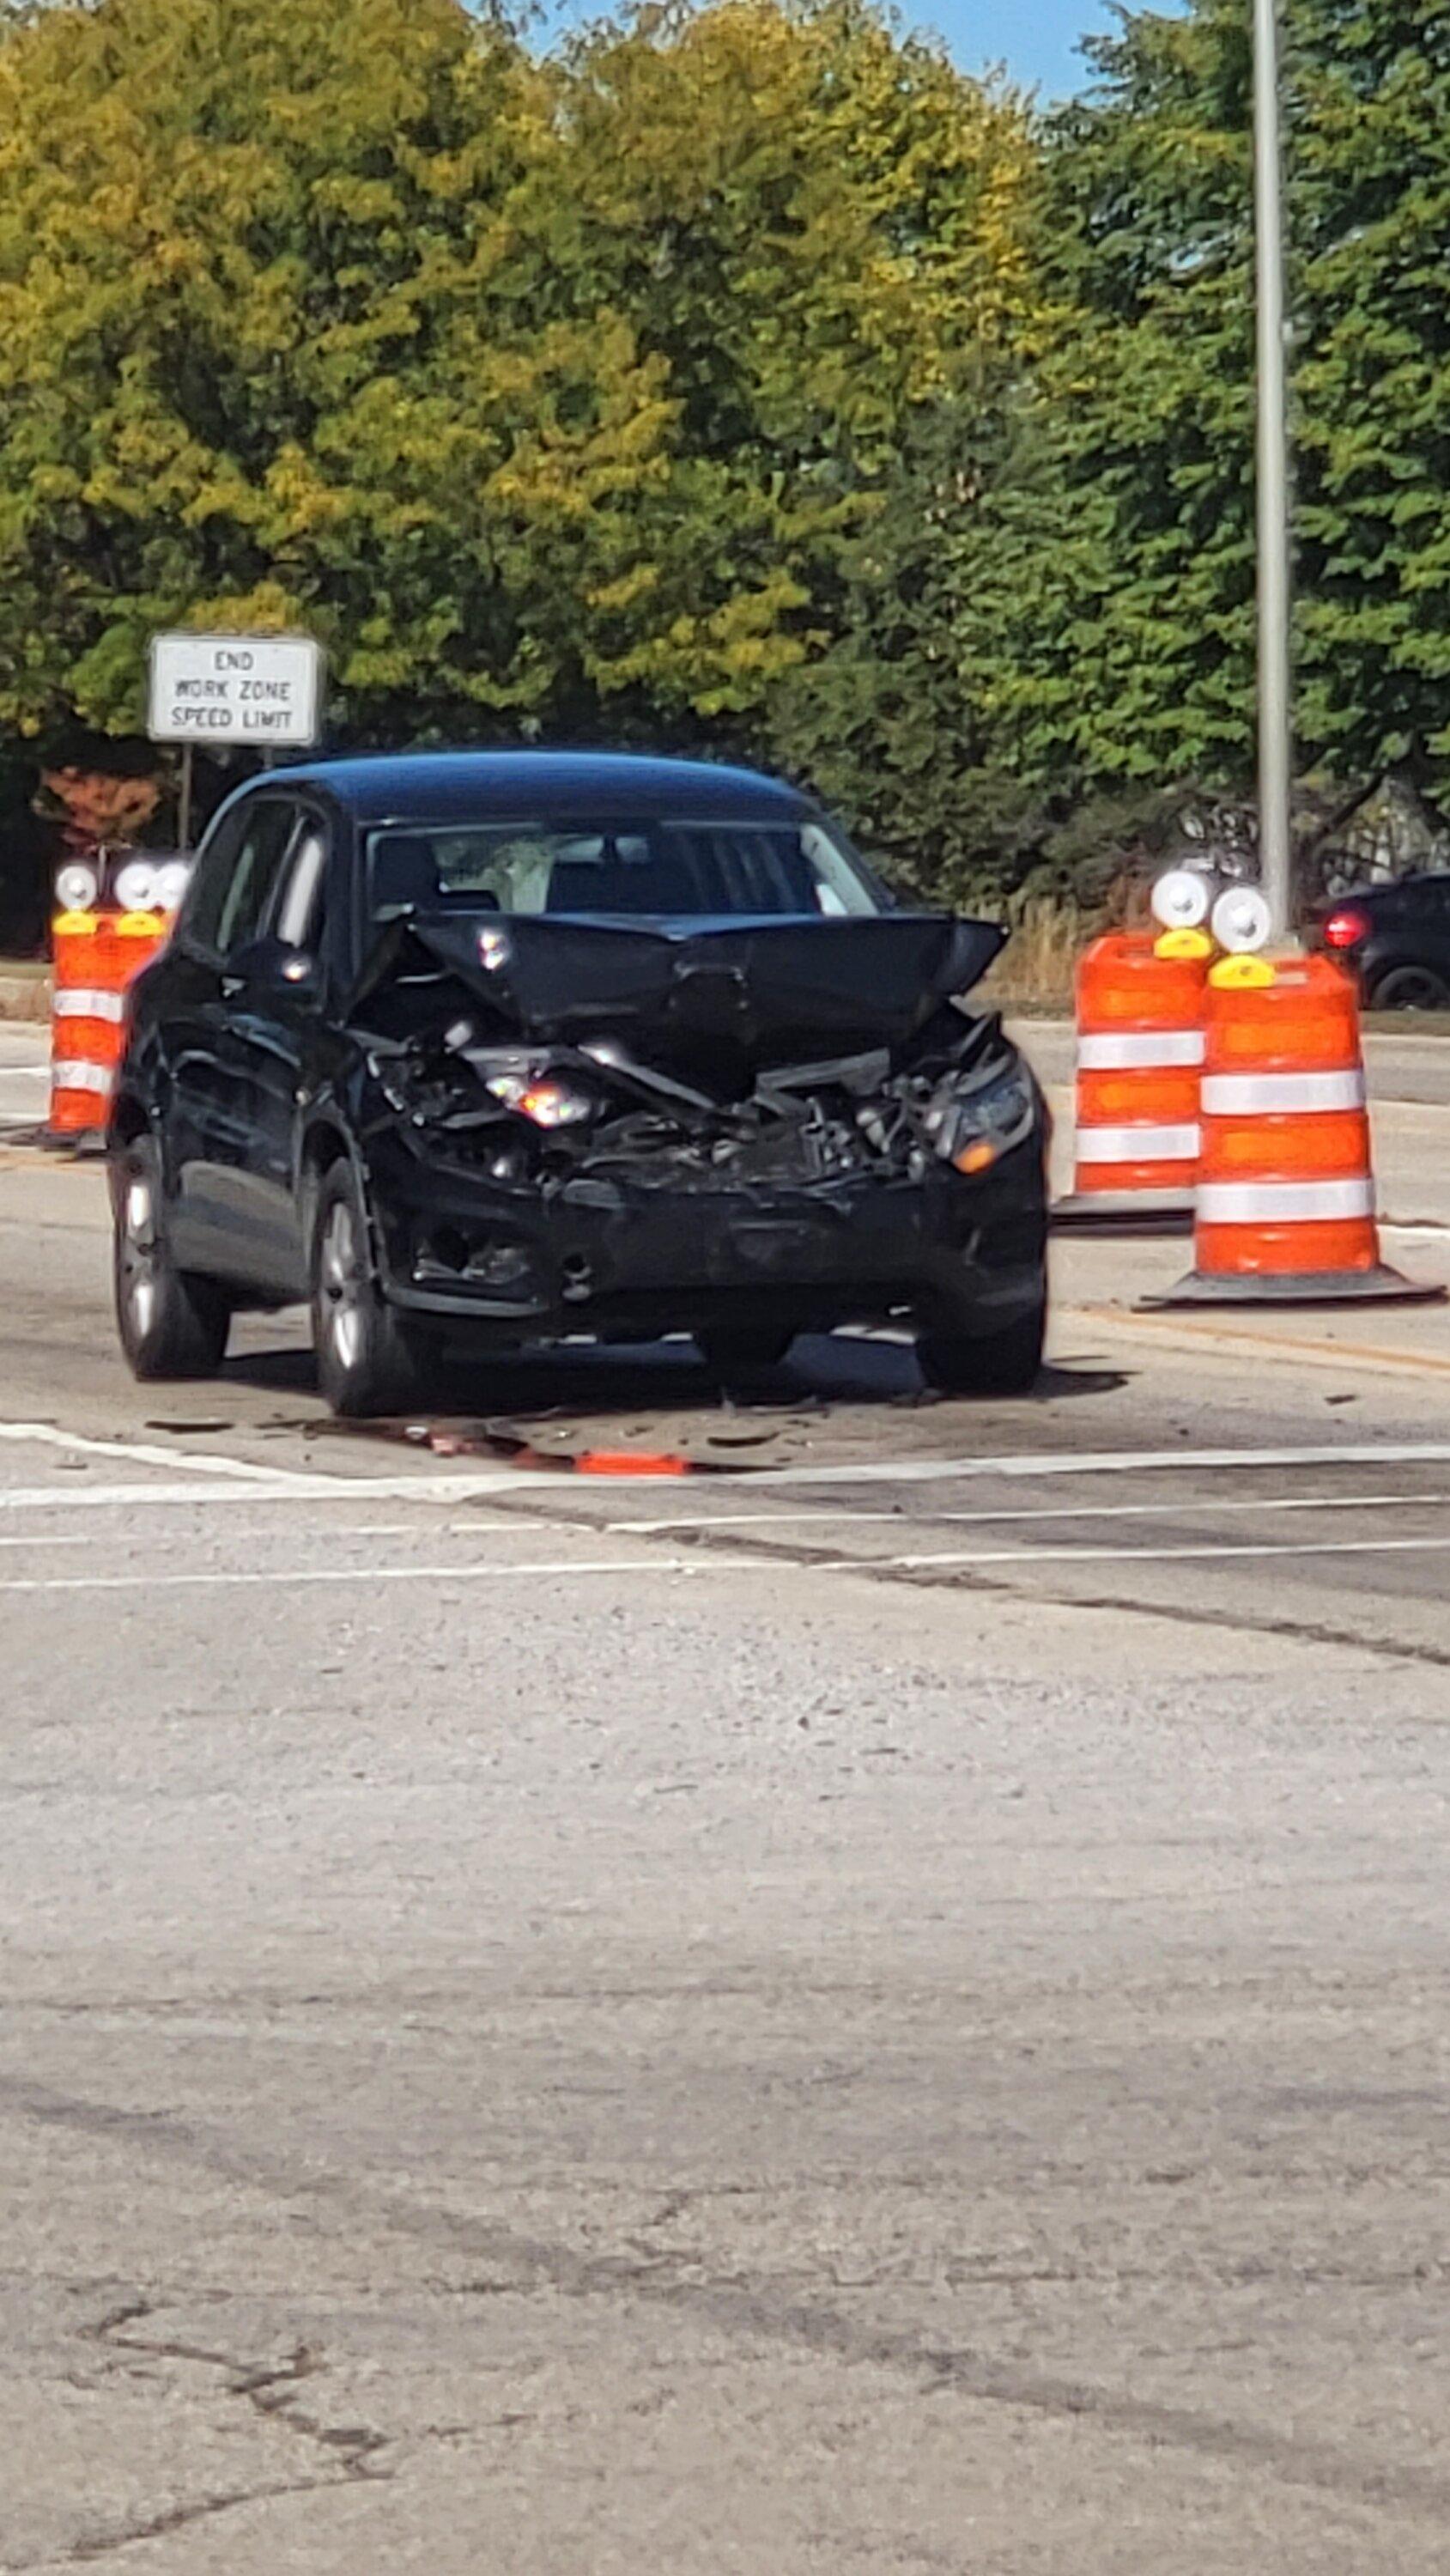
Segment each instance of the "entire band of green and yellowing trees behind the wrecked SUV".
[[[1450,21],[1285,0],[1298,726],[1445,801]],[[304,626],[345,739],[786,762],[1107,884],[1254,752],[1249,13],[1035,126],[865,0],[0,0],[0,729]]]

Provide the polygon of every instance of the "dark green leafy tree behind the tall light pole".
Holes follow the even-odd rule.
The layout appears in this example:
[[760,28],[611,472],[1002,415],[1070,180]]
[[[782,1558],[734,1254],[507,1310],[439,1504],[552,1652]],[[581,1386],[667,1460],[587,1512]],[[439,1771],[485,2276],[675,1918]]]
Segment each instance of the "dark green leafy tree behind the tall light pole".
[[[1053,126],[1059,322],[956,544],[963,685],[1035,781],[1234,778],[1254,742],[1249,18],[1095,41]],[[1450,44],[1437,0],[1288,0],[1298,739],[1450,752]]]

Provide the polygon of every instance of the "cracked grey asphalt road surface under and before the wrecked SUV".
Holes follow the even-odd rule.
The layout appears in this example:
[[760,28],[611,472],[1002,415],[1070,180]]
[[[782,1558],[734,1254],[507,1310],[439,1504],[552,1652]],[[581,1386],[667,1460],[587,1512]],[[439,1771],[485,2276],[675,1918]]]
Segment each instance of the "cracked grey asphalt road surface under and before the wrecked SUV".
[[0,2568],[1450,2563],[1450,1327],[1174,1262],[343,1435],[8,1157]]

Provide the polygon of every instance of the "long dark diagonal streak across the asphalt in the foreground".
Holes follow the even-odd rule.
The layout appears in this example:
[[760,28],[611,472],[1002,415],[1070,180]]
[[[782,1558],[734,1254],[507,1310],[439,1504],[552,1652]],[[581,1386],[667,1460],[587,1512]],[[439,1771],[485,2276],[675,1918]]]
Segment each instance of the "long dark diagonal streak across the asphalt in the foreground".
[[[976,2406],[1089,2421],[1105,2434],[1128,2434],[1149,2450],[1167,2445],[1208,2460],[1231,2460],[1288,2486],[1352,2496],[1360,2504],[1393,2504],[1432,2519],[1437,2527],[1450,2517],[1450,2476],[1437,2468],[1409,2460],[1362,2460],[1316,2434],[1275,2432],[1192,2406],[1138,2398],[1125,2388],[1105,2388],[1053,2370],[997,2362],[971,2344],[935,2344],[904,2329],[871,2326],[868,2318],[855,2318],[819,2298],[780,2298],[744,2280],[701,2277],[695,2264],[683,2275],[677,2262],[667,2257],[652,2262],[582,2254],[559,2239],[523,2236],[474,2213],[410,2200],[361,2174],[327,2172],[312,2156],[291,2159],[237,2146],[219,2130],[173,2115],[131,2112],[111,2102],[57,2094],[26,2079],[0,2079],[0,2097],[41,2125],[124,2141],[152,2156],[170,2156],[245,2182],[278,2200],[353,2202],[402,2236],[453,2246],[479,2267],[489,2287],[494,2287],[497,2275],[505,2275],[513,2277],[518,2295],[556,2290],[561,2298],[639,2300],[693,2316],[747,2344],[786,2344],[845,2365],[865,2362],[896,2372],[912,2380],[922,2398],[958,2396]],[[227,2357],[206,2357],[216,2367],[237,2370]],[[345,2481],[314,2483],[343,2486]]]

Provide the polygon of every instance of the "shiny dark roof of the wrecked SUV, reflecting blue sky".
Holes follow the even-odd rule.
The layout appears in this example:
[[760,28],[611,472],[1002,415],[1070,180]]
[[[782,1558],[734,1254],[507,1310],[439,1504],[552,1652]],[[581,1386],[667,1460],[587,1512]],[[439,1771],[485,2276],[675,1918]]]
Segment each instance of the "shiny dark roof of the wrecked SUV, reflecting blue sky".
[[[791,822],[814,806],[783,778],[713,760],[636,752],[373,752],[273,770],[273,788],[314,786],[358,822],[453,822],[500,814],[639,822]],[[258,781],[265,786],[265,781]]]

